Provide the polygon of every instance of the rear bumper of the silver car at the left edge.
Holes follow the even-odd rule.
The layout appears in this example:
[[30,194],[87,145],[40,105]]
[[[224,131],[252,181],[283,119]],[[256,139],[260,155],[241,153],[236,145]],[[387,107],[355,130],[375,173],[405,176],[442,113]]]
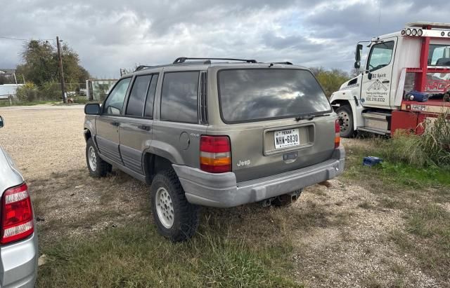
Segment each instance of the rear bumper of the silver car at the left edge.
[[37,234],[0,247],[1,287],[34,287],[37,277]]

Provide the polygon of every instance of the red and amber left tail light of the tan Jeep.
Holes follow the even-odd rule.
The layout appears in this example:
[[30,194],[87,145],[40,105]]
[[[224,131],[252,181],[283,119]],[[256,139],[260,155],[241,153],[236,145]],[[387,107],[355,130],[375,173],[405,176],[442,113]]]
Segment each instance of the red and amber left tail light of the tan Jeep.
[[231,171],[231,144],[227,136],[200,138],[200,169],[210,173]]

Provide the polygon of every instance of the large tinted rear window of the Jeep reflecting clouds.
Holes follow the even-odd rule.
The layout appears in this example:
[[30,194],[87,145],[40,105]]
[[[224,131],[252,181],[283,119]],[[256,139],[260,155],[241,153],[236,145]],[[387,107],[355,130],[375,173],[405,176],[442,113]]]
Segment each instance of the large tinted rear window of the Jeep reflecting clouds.
[[302,69],[225,69],[218,72],[221,117],[251,122],[330,112],[316,78]]

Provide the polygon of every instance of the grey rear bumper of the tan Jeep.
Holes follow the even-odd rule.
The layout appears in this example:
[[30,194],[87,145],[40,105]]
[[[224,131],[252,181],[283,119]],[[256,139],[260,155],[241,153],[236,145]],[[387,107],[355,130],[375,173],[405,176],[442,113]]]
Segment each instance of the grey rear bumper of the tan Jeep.
[[340,146],[322,163],[250,181],[236,182],[233,172],[220,174],[173,165],[189,203],[209,207],[235,207],[290,193],[332,179],[344,171],[345,149]]

